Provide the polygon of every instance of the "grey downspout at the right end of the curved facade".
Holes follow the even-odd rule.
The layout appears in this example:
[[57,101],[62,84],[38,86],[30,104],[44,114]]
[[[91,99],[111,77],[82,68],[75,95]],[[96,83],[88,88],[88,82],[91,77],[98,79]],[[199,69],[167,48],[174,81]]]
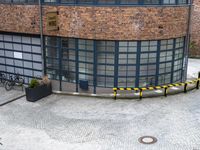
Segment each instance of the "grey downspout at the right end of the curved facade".
[[191,16],[192,16],[192,4],[193,0],[191,0],[189,4],[188,10],[188,26],[187,26],[187,37],[186,37],[186,51],[185,51],[185,80],[187,80],[187,70],[188,70],[188,57],[189,57],[189,49],[190,49],[190,31],[191,31]]

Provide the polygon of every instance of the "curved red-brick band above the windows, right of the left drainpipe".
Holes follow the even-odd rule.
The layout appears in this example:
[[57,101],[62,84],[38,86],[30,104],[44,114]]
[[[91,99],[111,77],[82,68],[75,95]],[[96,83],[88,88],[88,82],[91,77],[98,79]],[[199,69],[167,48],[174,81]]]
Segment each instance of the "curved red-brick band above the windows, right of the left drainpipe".
[[150,40],[184,36],[187,30],[185,7],[45,7],[44,12],[55,9],[59,12],[60,31],[51,35]]

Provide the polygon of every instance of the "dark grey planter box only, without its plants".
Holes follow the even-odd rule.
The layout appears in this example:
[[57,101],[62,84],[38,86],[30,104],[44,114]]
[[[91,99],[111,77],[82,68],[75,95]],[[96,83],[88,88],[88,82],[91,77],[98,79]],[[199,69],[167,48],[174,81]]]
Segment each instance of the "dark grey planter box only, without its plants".
[[36,88],[26,88],[26,99],[30,102],[35,102],[52,94],[51,84],[39,85]]

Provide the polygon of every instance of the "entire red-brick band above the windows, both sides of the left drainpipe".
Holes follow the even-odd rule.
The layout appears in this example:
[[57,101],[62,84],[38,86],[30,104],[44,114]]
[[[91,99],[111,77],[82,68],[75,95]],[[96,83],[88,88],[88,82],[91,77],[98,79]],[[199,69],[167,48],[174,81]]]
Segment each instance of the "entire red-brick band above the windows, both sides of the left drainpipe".
[[[12,10],[12,11],[11,11]],[[59,12],[59,31],[46,30],[46,12]],[[107,40],[149,40],[185,36],[187,7],[44,6],[44,34]],[[39,33],[38,7],[0,5],[1,31]],[[35,20],[35,25],[31,25]]]

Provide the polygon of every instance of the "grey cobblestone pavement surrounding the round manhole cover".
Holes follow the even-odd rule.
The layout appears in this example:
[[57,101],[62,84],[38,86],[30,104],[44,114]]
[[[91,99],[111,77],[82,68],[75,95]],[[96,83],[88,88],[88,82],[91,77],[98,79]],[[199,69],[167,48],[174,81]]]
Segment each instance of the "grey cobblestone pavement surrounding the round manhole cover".
[[[0,107],[0,150],[200,150],[199,96],[21,98]],[[139,143],[145,135],[157,143]]]

